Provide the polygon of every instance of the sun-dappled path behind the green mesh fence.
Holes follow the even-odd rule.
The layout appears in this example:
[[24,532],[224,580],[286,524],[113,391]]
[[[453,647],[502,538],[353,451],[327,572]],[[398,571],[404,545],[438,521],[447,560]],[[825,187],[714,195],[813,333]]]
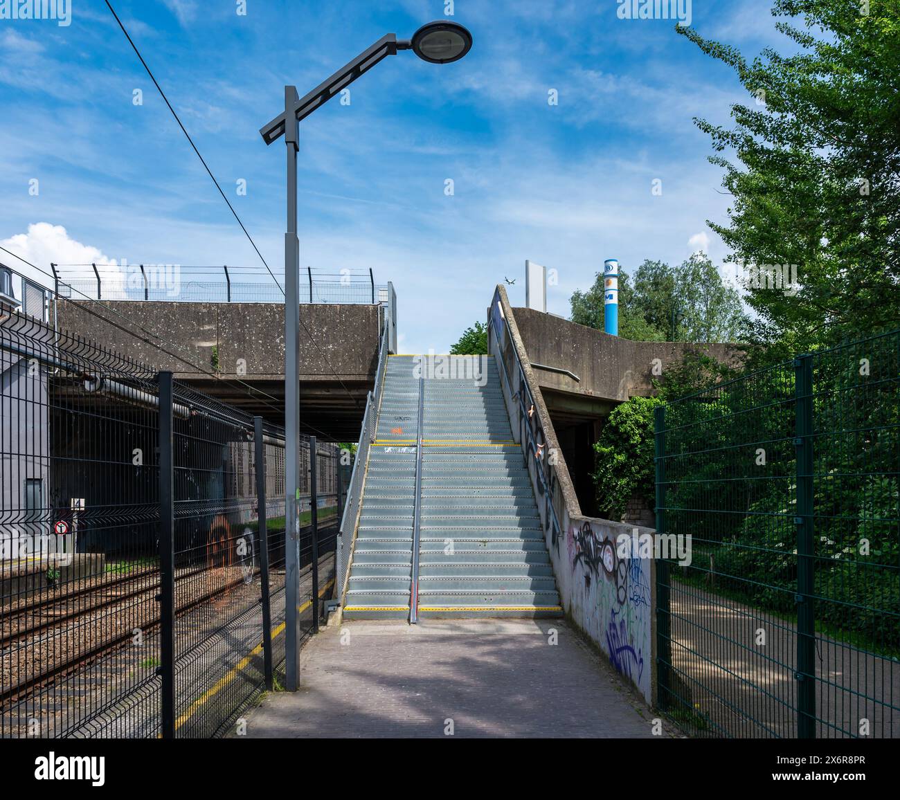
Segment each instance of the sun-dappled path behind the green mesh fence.
[[[823,601],[819,601],[823,602]],[[848,610],[848,629],[851,627]],[[757,644],[765,631],[766,643]],[[848,630],[848,638],[852,631]],[[702,733],[797,736],[797,625],[689,584],[671,589],[673,692],[707,720]],[[815,636],[816,739],[900,737],[900,664],[864,644]]]

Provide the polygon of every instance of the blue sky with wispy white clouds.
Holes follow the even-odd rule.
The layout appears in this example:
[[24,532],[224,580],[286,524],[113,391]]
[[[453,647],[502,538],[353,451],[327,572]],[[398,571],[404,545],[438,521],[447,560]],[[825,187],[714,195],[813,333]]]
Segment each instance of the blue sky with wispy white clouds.
[[[383,33],[445,16],[443,0],[247,0],[246,16],[235,0],[113,6],[279,276],[284,146],[257,131],[284,84],[303,94]],[[463,61],[400,53],[302,124],[302,267],[373,268],[397,289],[401,350],[446,352],[504,277],[524,304],[527,258],[557,270],[548,310],[561,314],[607,257],[627,271],[704,247],[722,263],[706,220],[725,220],[728,198],[691,120],[746,102],[727,67],[671,21],[618,19],[616,0],[454,12],[473,31]],[[748,56],[788,49],[767,0],[693,0],[691,17]],[[4,247],[44,268],[229,264],[271,283],[102,0],[72,0],[67,27],[0,20],[0,109]]]

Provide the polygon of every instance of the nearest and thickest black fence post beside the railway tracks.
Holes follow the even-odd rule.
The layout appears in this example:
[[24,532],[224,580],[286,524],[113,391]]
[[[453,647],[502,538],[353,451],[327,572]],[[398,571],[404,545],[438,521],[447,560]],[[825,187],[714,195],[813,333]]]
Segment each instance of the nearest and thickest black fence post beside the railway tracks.
[[172,373],[159,373],[159,661],[160,733],[175,738],[175,460]]

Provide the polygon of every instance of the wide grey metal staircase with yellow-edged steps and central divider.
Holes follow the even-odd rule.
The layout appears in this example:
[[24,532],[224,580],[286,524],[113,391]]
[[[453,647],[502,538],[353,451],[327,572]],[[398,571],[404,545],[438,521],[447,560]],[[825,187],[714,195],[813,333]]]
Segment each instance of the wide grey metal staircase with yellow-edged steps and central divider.
[[388,359],[344,617],[562,616],[493,357],[481,380],[417,364]]

